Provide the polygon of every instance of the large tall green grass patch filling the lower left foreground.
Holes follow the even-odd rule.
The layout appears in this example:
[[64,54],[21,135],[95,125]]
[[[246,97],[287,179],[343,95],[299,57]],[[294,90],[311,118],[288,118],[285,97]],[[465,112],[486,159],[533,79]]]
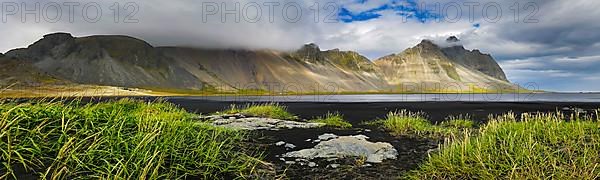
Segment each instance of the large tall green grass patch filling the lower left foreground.
[[[0,103],[0,179],[222,178],[253,173],[247,134],[164,102]],[[255,154],[255,155],[253,155]]]

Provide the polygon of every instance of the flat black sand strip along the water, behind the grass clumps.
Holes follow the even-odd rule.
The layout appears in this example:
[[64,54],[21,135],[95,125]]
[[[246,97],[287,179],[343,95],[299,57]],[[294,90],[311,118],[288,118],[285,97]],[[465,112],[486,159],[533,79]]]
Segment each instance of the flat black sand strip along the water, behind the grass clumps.
[[[212,113],[227,109],[232,104],[244,105],[253,102],[220,102],[208,100],[168,99],[188,111],[196,113]],[[598,103],[578,102],[376,102],[376,103],[319,103],[319,102],[285,102],[291,113],[301,118],[321,116],[327,112],[340,112],[346,120],[353,124],[383,118],[390,111],[407,109],[425,112],[433,122],[443,121],[450,115],[469,115],[473,120],[485,122],[488,115],[514,112],[556,112],[565,108],[594,110]]]

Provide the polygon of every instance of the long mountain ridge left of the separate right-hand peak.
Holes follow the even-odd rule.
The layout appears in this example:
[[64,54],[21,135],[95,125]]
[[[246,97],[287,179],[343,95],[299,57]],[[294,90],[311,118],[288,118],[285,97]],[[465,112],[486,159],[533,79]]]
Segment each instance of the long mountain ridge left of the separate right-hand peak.
[[7,55],[82,84],[276,92],[376,91],[387,85],[358,53],[323,52],[314,44],[291,53],[155,48],[126,36],[55,33]]

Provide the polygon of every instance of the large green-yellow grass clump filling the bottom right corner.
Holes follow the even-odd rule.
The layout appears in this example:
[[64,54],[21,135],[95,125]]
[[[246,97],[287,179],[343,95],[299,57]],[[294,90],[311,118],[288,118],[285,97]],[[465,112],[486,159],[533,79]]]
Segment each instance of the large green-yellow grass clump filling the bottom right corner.
[[493,117],[446,142],[409,179],[598,179],[600,122],[562,114]]

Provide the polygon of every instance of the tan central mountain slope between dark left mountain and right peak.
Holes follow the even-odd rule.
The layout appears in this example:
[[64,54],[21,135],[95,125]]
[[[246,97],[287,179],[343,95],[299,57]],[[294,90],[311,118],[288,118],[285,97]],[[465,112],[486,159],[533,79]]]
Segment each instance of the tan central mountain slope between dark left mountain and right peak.
[[[333,55],[306,45],[297,52],[160,48],[198,78],[221,89],[275,92],[375,91],[386,86],[375,72],[346,69]],[[355,61],[356,58],[347,59]],[[366,58],[364,58],[366,59]],[[369,62],[370,63],[370,62]]]

